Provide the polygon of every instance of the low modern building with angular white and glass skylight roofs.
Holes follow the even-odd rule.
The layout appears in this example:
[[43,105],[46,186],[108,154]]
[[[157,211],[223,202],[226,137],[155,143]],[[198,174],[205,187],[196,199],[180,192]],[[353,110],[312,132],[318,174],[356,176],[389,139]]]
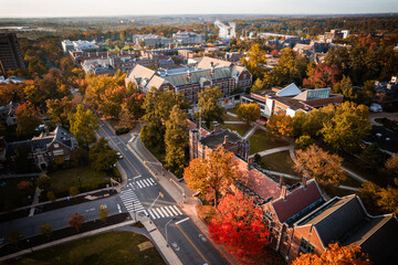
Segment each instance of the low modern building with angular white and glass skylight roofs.
[[251,93],[241,97],[242,104],[256,103],[260,105],[261,116],[269,118],[274,114],[285,114],[291,117],[296,112],[308,113],[328,104],[342,104],[343,96],[331,94],[331,88],[298,89],[292,83],[289,86],[273,87],[271,91]]

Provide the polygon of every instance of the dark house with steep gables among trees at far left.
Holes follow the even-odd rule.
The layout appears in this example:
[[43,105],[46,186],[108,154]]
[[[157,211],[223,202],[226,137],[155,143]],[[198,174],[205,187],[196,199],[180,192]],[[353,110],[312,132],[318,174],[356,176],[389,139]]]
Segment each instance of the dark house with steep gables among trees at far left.
[[53,131],[41,132],[31,140],[13,141],[6,144],[6,160],[14,161],[17,150],[22,148],[28,153],[28,159],[40,169],[46,169],[51,161],[62,157],[70,160],[72,151],[77,147],[74,136],[62,127],[57,126]]

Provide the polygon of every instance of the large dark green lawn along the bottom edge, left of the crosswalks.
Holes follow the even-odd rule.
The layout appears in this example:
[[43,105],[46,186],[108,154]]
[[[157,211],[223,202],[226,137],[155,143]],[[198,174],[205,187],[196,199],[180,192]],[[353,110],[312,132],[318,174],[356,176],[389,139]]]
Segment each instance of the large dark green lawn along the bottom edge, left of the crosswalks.
[[165,264],[155,246],[139,251],[138,245],[149,242],[132,232],[108,232],[24,255],[3,264]]

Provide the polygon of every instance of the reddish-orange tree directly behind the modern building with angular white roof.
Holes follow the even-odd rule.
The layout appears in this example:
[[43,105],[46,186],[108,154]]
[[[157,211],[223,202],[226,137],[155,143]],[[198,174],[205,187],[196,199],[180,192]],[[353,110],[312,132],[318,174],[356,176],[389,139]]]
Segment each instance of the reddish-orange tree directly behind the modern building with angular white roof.
[[339,70],[336,65],[318,64],[308,73],[303,85],[311,88],[332,87],[338,82]]

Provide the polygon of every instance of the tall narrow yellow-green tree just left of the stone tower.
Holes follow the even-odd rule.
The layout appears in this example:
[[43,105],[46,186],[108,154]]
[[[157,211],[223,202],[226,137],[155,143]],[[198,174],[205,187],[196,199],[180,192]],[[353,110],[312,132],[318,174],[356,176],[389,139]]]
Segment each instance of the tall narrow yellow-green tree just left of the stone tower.
[[170,118],[166,121],[166,167],[176,176],[184,173],[187,166],[186,149],[188,142],[187,115],[177,106],[172,107]]

